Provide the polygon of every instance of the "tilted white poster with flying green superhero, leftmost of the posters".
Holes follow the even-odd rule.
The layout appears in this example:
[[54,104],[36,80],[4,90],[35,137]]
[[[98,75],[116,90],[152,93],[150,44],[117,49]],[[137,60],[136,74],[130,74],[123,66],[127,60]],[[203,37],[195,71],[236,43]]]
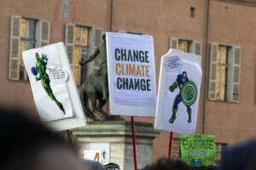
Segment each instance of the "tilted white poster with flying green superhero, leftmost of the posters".
[[[42,122],[55,122],[56,130],[84,125],[84,113],[64,44],[33,48],[22,52],[22,57]],[[71,118],[73,123],[65,126],[63,123]]]

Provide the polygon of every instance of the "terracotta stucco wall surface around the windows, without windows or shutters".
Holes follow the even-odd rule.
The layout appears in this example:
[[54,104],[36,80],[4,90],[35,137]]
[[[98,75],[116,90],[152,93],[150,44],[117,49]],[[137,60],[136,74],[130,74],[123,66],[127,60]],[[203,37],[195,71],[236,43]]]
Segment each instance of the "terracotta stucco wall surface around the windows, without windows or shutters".
[[[61,42],[64,41],[64,24],[67,22],[108,30],[110,2],[110,0],[69,0],[69,16],[62,18],[61,0],[0,1],[0,104],[14,107],[21,105],[30,116],[38,118],[29,82],[12,82],[7,78],[10,15],[49,20],[51,24],[50,43]],[[208,30],[209,42],[241,47],[240,103],[231,104],[207,99],[205,105],[205,133],[215,134],[217,141],[224,143],[234,143],[256,136],[256,33],[254,31],[256,7],[251,3],[232,2],[211,0]],[[195,18],[189,17],[190,7],[195,7]],[[206,0],[113,0],[113,31],[137,31],[154,37],[157,79],[160,71],[160,56],[166,54],[169,48],[169,37],[202,42],[202,69],[204,71],[206,21]],[[201,133],[203,127],[203,88],[204,79],[201,88],[197,133]],[[154,122],[154,119],[136,117],[136,121]],[[176,134],[175,137],[177,137]],[[168,139],[169,133],[164,132],[154,139],[154,160],[160,156],[167,156]]]

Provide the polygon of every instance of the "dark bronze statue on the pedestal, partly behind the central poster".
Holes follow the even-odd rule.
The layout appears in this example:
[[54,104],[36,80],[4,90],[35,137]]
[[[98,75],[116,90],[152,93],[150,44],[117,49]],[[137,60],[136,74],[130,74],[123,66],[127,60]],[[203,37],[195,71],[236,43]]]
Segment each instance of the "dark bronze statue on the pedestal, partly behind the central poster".
[[[80,91],[80,99],[85,115],[94,121],[98,120],[93,114],[94,112],[102,116],[102,121],[119,119],[119,116],[109,116],[102,110],[103,105],[105,105],[108,100],[108,64],[105,33],[102,35],[102,40],[103,42],[96,48],[94,54],[91,54],[88,59],[84,59],[84,56],[82,56],[82,60],[79,62],[80,65],[85,65],[93,59],[96,59],[98,54],[101,57],[100,69],[90,74]],[[88,99],[91,101],[93,111],[90,110]]]

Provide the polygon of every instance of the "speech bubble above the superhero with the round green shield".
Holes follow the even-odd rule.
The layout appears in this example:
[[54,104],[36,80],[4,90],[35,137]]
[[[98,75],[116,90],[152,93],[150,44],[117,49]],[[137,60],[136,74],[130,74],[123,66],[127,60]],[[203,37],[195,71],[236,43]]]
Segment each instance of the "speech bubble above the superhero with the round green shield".
[[168,72],[177,72],[180,71],[183,67],[183,60],[178,56],[170,56],[165,59],[164,67]]

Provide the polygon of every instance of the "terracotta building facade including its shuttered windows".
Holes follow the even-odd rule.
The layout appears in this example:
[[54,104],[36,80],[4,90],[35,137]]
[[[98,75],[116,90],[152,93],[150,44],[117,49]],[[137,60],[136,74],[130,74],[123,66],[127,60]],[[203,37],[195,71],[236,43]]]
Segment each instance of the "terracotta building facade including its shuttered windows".
[[[169,48],[202,55],[196,133],[214,134],[218,151],[256,136],[256,1],[3,0],[0,5],[1,105],[22,106],[38,119],[23,50],[65,42],[79,88],[99,68],[99,60],[87,67],[79,60],[93,52],[102,31],[146,34],[154,37],[156,80],[160,57]],[[154,139],[153,160],[167,156],[168,140],[166,132]],[[172,156],[178,155],[175,134]]]

